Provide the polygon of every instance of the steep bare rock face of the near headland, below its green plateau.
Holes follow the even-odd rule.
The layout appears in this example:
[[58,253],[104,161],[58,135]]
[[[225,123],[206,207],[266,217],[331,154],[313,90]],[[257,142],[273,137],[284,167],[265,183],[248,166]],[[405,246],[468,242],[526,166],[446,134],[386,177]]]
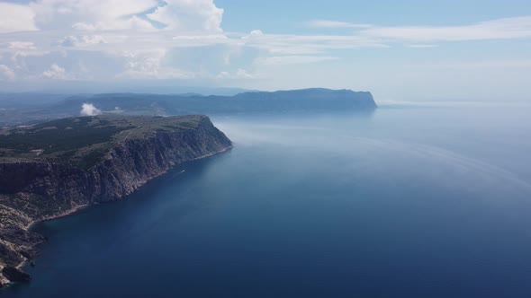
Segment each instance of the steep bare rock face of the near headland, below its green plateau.
[[[43,239],[29,231],[31,223],[121,199],[179,163],[231,147],[207,117],[195,118],[187,129],[127,136],[117,138],[88,169],[58,159],[0,162],[0,269],[12,270],[35,254]],[[5,277],[0,276],[0,284],[7,282]]]

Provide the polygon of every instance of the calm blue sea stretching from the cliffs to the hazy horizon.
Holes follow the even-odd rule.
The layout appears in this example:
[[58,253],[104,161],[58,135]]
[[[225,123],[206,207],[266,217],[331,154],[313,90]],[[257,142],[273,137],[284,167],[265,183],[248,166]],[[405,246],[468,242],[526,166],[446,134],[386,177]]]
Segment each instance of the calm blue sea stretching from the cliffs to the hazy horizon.
[[6,297],[530,297],[531,110],[214,118],[235,148],[40,224]]

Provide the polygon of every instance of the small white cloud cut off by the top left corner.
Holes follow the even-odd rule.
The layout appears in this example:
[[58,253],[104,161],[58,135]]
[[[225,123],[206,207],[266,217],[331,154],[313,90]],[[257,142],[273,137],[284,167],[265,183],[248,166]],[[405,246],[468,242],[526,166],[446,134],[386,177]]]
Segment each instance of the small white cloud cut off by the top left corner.
[[0,33],[36,31],[34,17],[27,5],[0,3]]

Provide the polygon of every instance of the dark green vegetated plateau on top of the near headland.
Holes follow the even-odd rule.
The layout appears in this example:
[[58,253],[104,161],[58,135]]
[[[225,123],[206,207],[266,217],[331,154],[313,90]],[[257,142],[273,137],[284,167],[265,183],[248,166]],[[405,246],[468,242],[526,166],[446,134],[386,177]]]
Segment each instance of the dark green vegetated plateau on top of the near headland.
[[53,160],[83,168],[98,162],[112,145],[157,131],[184,131],[202,116],[94,116],[62,118],[0,131],[0,162]]

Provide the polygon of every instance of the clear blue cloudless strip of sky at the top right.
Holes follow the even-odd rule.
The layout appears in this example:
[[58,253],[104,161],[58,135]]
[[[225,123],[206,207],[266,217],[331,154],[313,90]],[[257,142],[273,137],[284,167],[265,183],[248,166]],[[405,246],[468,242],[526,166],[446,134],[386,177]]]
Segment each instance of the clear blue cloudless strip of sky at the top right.
[[[218,0],[225,9],[223,28],[228,31],[304,32],[301,24],[324,19],[380,25],[462,25],[509,16],[526,15],[525,0],[401,0],[401,1],[302,1]],[[274,17],[274,20],[271,18]]]

